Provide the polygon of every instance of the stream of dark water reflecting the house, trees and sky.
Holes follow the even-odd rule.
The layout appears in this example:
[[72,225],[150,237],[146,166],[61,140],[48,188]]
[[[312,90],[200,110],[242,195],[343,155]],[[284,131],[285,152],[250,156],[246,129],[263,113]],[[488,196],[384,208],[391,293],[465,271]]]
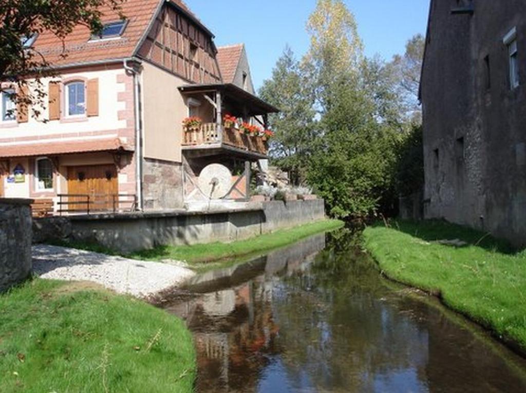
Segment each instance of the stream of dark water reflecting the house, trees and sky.
[[383,280],[349,233],[302,241],[188,284],[198,392],[526,391],[526,364]]

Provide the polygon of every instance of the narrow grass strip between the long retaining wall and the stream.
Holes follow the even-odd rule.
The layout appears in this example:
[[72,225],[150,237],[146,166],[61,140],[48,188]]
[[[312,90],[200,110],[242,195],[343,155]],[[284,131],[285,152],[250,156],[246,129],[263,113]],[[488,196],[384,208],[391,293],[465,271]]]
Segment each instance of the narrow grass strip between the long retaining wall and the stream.
[[247,257],[261,251],[286,246],[322,231],[341,228],[343,225],[343,222],[339,220],[322,220],[292,229],[280,229],[247,240],[233,241],[232,243],[218,242],[190,246],[160,246],[128,255],[128,257],[146,260],[184,260],[191,267],[200,270],[204,264],[211,261],[231,261],[239,257]]

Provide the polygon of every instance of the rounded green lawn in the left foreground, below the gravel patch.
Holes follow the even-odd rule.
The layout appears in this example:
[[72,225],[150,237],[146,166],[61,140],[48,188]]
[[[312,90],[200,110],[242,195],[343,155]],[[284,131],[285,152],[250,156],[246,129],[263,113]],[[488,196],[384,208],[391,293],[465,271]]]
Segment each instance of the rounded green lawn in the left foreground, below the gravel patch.
[[0,391],[191,392],[184,323],[88,283],[35,279],[0,295]]

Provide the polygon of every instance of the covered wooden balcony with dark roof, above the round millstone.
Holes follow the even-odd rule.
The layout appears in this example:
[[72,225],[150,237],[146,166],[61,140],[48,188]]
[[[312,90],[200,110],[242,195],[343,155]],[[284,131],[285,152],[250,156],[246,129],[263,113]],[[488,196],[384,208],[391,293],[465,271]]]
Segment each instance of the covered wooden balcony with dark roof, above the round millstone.
[[[198,124],[183,126],[183,151],[201,157],[228,154],[247,160],[268,158],[265,136],[241,132],[240,126],[226,127],[223,117],[230,114],[241,122],[267,128],[269,113],[278,109],[232,84],[187,85],[179,88]],[[250,127],[250,126],[247,126]],[[257,133],[256,133],[257,134]]]

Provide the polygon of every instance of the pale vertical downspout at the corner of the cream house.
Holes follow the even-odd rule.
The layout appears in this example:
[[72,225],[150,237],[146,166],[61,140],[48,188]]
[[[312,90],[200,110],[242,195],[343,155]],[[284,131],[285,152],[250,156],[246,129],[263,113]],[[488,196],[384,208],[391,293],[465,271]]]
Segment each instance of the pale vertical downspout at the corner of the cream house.
[[139,91],[139,72],[128,65],[129,61],[138,62],[134,58],[123,60],[126,72],[133,75],[134,84],[134,114],[135,114],[135,185],[137,193],[137,210],[143,210],[143,138],[140,121],[140,91]]

